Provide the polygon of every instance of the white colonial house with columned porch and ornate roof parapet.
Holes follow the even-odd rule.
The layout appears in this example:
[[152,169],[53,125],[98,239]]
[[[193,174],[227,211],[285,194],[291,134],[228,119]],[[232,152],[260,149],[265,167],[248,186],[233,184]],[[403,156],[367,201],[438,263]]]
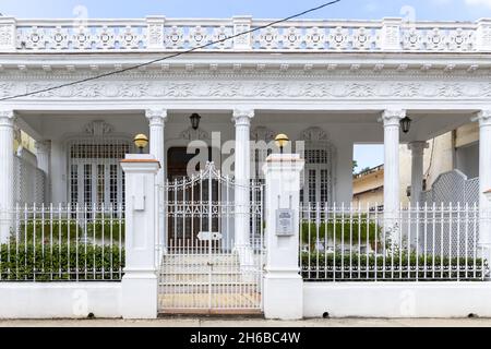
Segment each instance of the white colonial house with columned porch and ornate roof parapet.
[[[261,224],[250,225],[250,213],[241,209],[254,201],[250,190],[261,194],[261,184],[249,183],[253,178],[263,179],[262,166],[271,152],[251,151],[248,141],[267,144],[276,134],[285,133],[294,143],[304,142],[304,207],[349,206],[354,144],[383,143],[385,183],[384,203],[380,204],[385,220],[396,219],[402,202],[399,145],[408,144],[412,152],[412,205],[423,205],[427,141],[477,120],[480,160],[476,204],[481,212],[491,209],[486,196],[491,189],[491,20],[302,20],[263,27],[268,23],[250,16],[149,16],[83,23],[0,17],[0,207],[12,209],[16,204],[34,202],[45,206],[123,203],[124,176],[119,163],[135,151],[133,136],[145,133],[151,141],[149,153],[161,165],[156,184],[167,192],[159,192],[157,201],[160,206],[176,204],[176,210],[161,209],[157,218],[163,251],[179,240],[184,226],[200,219],[183,215],[183,221],[178,222],[176,217],[173,221],[166,218],[166,214],[179,215],[177,202],[192,207],[204,202],[209,206],[233,202],[233,221],[225,218],[228,210],[221,216],[217,213],[208,219],[207,231],[219,226],[221,233],[224,229],[235,231],[231,239],[236,244],[249,244],[246,237],[250,228],[262,230],[264,219],[258,212]],[[226,40],[244,32],[248,34]],[[209,46],[176,56],[205,44]],[[201,116],[194,128],[190,123],[193,113]],[[403,132],[400,121],[407,117],[412,123],[405,130],[408,132]],[[37,142],[37,167],[45,179],[29,184],[33,188],[28,191],[26,182],[39,177],[39,171],[26,177],[19,170],[25,160],[14,154],[14,127]],[[224,179],[208,168],[208,173],[199,179],[224,179],[224,185],[235,186],[230,197],[226,196],[228,186],[223,191],[212,190],[213,185],[188,191],[195,185],[190,178],[189,186],[185,180],[182,184],[184,194],[169,198],[172,181],[189,174],[192,156],[187,147],[196,140],[212,151],[209,160],[218,169],[229,165],[228,155],[235,154],[233,178]],[[227,141],[237,142],[232,148],[224,148]],[[273,147],[272,152],[277,149]],[[199,200],[194,194],[208,197]],[[475,204],[457,201],[463,206]],[[433,204],[427,200],[427,206]],[[306,221],[315,209],[307,212]],[[197,217],[204,210],[189,215],[194,213]],[[435,219],[434,210],[431,215]],[[321,217],[319,212],[315,216],[318,220]],[[479,224],[478,245],[489,248],[491,230],[483,229],[482,217]],[[196,225],[199,229],[190,228],[179,243],[187,245],[187,240],[203,232],[202,222]],[[414,236],[419,238],[421,233]],[[322,249],[327,249],[327,240],[333,239],[323,239],[326,243]],[[362,239],[361,233],[357,239]],[[376,241],[368,240],[364,244],[351,241],[351,245],[363,245],[368,255],[378,246]],[[418,246],[416,250],[428,251],[421,241],[408,240]],[[444,241],[442,238],[440,245]],[[434,246],[433,234],[433,252]],[[452,254],[452,246],[450,251]],[[247,253],[241,255],[241,262],[246,257]]]

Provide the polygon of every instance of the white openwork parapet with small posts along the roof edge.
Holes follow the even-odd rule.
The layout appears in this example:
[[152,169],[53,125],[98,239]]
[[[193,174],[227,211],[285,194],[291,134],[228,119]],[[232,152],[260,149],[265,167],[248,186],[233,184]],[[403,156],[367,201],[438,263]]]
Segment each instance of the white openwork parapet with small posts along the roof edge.
[[[272,21],[225,20],[16,20],[0,17],[0,52],[180,51],[221,40]],[[302,20],[276,24],[203,51],[486,52],[491,19],[477,22]]]

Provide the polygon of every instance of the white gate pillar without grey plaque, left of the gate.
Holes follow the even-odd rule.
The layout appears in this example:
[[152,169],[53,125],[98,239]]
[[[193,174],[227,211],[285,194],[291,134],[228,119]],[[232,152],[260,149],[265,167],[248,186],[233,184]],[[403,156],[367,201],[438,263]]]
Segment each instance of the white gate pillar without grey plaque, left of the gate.
[[152,155],[127,155],[125,268],[122,287],[124,318],[156,318],[158,280],[155,267],[155,178],[159,161]]

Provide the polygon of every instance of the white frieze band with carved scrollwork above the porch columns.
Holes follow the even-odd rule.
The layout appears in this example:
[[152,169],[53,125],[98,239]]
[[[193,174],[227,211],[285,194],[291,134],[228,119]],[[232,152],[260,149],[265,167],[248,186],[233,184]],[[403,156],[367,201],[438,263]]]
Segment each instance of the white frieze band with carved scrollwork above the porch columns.
[[[0,83],[0,96],[48,89],[57,83]],[[47,91],[27,99],[371,99],[371,98],[488,98],[490,82],[92,82]]]

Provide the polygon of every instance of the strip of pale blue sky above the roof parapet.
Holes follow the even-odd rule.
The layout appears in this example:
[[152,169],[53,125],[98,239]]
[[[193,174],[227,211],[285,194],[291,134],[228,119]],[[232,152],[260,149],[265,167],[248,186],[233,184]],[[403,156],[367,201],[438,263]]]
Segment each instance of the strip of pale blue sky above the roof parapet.
[[[19,17],[73,17],[83,5],[88,17],[283,17],[326,0],[0,0],[0,12]],[[75,10],[75,11],[74,11]],[[85,11],[83,11],[85,12]],[[80,11],[79,11],[80,13]],[[476,20],[491,16],[491,0],[342,0],[309,17]]]

